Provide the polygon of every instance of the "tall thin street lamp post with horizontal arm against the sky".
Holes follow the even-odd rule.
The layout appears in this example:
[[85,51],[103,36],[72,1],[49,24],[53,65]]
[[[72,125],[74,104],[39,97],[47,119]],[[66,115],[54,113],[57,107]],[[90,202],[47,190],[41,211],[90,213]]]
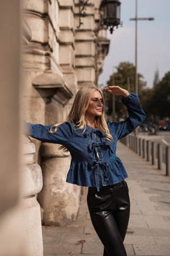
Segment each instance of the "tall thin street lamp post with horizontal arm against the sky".
[[154,20],[154,18],[138,18],[138,0],[136,0],[135,12],[135,18],[130,20],[135,20],[135,93],[138,95],[138,20]]

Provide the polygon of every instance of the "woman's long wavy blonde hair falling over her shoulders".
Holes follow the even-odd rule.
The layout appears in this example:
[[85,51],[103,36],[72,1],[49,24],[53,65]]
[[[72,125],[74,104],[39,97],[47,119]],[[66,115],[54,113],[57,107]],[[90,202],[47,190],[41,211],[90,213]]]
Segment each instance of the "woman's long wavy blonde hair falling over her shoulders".
[[[104,112],[105,103],[104,103],[103,93],[100,89],[98,89],[97,87],[93,87],[93,86],[84,86],[77,92],[77,94],[75,95],[75,99],[74,99],[72,108],[71,108],[70,113],[67,116],[66,120],[63,123],[54,124],[50,128],[49,132],[55,133],[57,128],[61,124],[64,124],[66,122],[72,122],[74,124],[74,126],[77,127],[77,130],[84,129],[83,130],[83,133],[84,133],[84,131],[86,130],[86,110],[89,106],[91,95],[94,91],[98,91],[101,94],[101,97],[103,99],[103,105],[104,105],[102,115],[96,116],[95,126],[99,130],[106,133],[106,136],[105,136],[106,140],[113,141],[113,137],[112,137],[111,133],[109,132],[109,129],[108,129],[108,126],[106,123],[106,119],[105,119],[105,112]],[[61,148],[65,148],[65,147],[61,146]]]

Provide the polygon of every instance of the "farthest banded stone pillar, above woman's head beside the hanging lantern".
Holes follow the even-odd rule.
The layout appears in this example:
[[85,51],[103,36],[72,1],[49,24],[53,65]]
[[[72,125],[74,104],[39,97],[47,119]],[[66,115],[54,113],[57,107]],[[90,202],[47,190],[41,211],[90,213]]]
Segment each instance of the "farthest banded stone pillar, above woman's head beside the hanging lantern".
[[104,58],[108,53],[107,28],[101,27],[101,0],[89,0],[86,16],[79,25],[79,1],[75,1],[75,69],[78,86],[97,86]]

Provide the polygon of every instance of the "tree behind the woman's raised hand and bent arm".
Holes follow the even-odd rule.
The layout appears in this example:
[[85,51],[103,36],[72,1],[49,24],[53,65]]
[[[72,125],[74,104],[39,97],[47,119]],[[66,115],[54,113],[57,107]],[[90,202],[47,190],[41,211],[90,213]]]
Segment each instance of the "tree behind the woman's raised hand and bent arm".
[[[135,79],[135,67],[133,63],[130,62],[120,62],[119,65],[116,67],[117,72],[112,74],[109,81],[107,82],[108,86],[118,85],[123,87],[124,89],[128,90],[128,83],[127,79],[130,79],[130,91],[135,92],[134,88],[134,79]],[[139,90],[139,97],[142,94],[143,88],[146,86],[146,82],[143,80],[143,76],[138,74],[138,90]],[[107,93],[104,90],[105,100],[106,100],[106,114],[112,117],[112,94]],[[115,97],[115,112],[117,115],[117,121],[120,118],[126,117],[126,108],[122,105],[121,102],[122,97]]]

